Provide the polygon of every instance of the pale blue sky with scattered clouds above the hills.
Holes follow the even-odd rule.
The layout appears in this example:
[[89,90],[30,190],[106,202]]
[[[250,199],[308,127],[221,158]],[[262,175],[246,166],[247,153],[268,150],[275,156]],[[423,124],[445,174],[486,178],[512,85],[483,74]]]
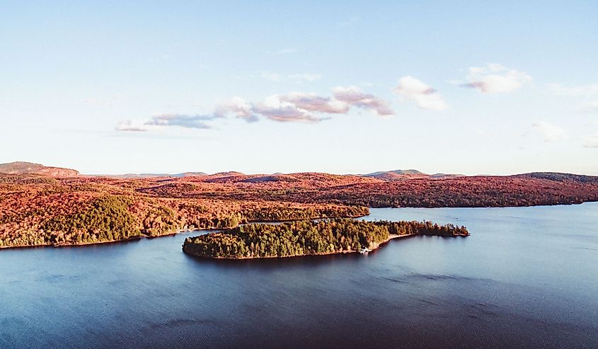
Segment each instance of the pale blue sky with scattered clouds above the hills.
[[0,1],[0,163],[598,175],[598,1]]

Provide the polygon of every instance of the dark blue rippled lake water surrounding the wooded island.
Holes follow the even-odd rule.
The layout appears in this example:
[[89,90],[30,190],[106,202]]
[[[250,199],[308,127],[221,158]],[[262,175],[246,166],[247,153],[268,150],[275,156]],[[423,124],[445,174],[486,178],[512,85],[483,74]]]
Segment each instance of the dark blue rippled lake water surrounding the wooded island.
[[471,236],[260,261],[186,256],[189,234],[4,250],[0,348],[597,348],[598,203],[366,219]]

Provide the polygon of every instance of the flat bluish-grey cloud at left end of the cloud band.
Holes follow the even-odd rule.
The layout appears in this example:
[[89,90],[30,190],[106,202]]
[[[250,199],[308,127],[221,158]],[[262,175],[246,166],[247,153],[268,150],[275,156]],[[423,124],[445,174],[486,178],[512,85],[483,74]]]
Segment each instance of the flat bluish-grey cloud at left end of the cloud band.
[[212,128],[206,121],[214,120],[218,115],[185,115],[185,114],[159,114],[149,120],[126,120],[119,122],[117,131],[144,132],[157,127],[178,126],[193,129]]

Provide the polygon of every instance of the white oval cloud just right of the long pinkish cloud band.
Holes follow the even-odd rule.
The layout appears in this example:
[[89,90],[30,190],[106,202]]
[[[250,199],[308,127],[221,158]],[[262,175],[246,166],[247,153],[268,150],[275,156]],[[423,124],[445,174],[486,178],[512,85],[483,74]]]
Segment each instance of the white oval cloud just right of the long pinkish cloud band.
[[445,110],[449,108],[449,105],[442,99],[442,95],[413,76],[403,76],[399,79],[394,91],[408,101],[415,102],[422,109]]

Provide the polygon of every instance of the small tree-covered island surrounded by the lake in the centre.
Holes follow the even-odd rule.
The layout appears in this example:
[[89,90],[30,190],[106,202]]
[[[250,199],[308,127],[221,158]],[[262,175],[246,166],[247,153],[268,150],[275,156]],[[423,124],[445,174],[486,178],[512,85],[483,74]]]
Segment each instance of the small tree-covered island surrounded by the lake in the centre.
[[432,222],[365,222],[355,219],[245,224],[185,239],[183,251],[205,258],[247,259],[371,251],[391,239],[414,235],[468,236],[466,227]]

